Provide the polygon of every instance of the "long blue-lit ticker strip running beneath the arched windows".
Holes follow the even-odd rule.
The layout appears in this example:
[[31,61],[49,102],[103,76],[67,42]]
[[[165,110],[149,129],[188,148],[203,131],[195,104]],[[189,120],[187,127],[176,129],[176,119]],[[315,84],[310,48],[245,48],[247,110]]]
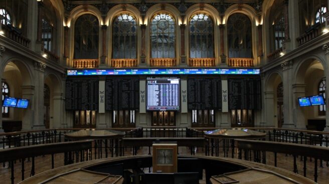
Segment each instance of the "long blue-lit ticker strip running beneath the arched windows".
[[134,75],[134,74],[259,74],[258,68],[110,68],[68,69],[67,75]]

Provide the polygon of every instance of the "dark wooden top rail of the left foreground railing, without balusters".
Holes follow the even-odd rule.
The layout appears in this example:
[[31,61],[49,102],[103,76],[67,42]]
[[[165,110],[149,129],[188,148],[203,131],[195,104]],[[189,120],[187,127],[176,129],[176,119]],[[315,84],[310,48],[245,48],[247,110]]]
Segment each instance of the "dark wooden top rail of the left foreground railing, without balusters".
[[13,147],[0,150],[0,162],[12,161],[21,158],[91,149],[92,140],[46,143],[30,146]]

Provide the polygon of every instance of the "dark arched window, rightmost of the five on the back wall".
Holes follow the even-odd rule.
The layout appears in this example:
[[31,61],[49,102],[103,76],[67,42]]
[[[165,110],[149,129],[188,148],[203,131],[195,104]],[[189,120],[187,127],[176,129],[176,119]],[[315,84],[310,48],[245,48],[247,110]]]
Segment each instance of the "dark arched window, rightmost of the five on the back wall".
[[243,13],[232,14],[227,21],[229,57],[253,58],[251,21]]

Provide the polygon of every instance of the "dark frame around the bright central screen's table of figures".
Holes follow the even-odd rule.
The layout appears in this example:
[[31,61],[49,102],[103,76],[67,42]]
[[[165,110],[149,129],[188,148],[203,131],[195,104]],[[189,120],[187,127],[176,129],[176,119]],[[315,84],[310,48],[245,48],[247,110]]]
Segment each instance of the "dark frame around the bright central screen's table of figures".
[[[178,80],[178,105],[177,106],[152,106],[148,105],[148,81],[150,80]],[[181,78],[179,77],[147,77],[146,78],[146,110],[147,111],[180,111],[181,110]]]

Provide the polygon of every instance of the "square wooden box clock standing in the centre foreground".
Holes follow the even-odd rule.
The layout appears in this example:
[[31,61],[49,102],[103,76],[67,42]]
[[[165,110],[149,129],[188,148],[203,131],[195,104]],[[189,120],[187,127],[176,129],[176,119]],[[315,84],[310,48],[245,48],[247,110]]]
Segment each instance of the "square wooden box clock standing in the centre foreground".
[[153,143],[153,172],[177,172],[177,143]]

